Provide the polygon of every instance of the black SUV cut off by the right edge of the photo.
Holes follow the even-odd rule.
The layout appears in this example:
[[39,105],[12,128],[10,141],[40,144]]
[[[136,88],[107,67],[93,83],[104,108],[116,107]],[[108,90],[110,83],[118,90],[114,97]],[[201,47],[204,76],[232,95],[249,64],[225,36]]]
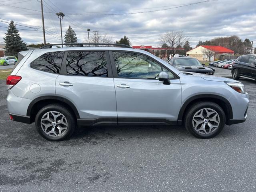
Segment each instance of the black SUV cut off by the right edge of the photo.
[[233,79],[239,79],[239,77],[244,76],[256,80],[256,54],[240,56],[232,65]]

